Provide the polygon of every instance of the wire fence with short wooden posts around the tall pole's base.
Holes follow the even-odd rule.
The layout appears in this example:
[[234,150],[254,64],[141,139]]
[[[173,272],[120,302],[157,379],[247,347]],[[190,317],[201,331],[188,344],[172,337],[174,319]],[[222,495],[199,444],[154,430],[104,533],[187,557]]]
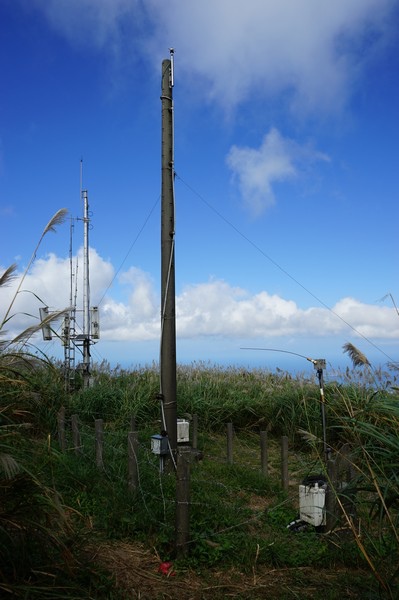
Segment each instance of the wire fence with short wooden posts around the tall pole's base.
[[[287,436],[269,439],[266,431],[241,435],[227,423],[225,438],[215,442],[203,438],[197,427],[194,416],[190,441],[178,447],[177,477],[169,476],[173,466],[154,452],[151,432],[137,430],[134,418],[124,430],[115,430],[102,419],[87,424],[61,409],[58,443],[63,454],[73,455],[113,489],[139,502],[150,529],[174,522],[176,545],[183,553],[199,540],[217,547],[228,531],[258,526],[266,513],[283,506],[298,507],[298,484],[316,464],[309,455],[296,453]],[[231,519],[222,514],[227,505],[234,512]],[[332,505],[330,510],[335,510]],[[190,525],[193,513],[195,527]]]

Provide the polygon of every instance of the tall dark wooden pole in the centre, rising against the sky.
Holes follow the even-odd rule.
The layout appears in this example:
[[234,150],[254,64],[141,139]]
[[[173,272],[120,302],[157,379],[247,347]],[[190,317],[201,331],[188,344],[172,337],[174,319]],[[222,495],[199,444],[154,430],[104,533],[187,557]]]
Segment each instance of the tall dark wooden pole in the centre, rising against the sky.
[[173,457],[177,450],[173,50],[162,61],[161,351],[163,425]]

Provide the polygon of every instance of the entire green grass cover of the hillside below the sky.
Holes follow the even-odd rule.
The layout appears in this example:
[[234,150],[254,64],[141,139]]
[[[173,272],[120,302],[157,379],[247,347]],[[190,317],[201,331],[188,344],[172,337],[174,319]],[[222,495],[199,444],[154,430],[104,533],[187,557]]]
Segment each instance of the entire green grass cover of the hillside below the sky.
[[[347,597],[396,597],[397,371],[354,369],[339,380],[325,386],[328,440],[333,451],[339,452],[344,443],[351,446],[357,520],[354,523],[344,514],[330,534],[313,528],[294,534],[287,525],[298,514],[298,485],[306,475],[323,470],[315,378],[196,363],[178,368],[178,416],[197,415],[203,455],[191,466],[190,548],[181,557],[175,549],[176,478],[160,473],[158,459],[150,451],[150,437],[161,427],[156,366],[126,371],[100,365],[91,388],[67,395],[62,371],[51,361],[26,353],[3,354],[1,592],[10,598],[138,598],[134,590],[126,595],[126,589],[110,578],[109,561],[104,556],[100,560],[101,553],[89,550],[116,544],[117,551],[128,543],[142,545],[158,563],[173,562],[175,586],[187,577],[209,584],[211,574],[217,574],[229,578],[223,585],[233,585],[235,577],[252,582],[250,592],[235,582],[236,597],[243,598],[266,597],[266,591],[267,597],[294,598],[291,588],[302,589],[304,598],[316,597],[320,590],[326,597],[337,597],[334,590],[341,588],[346,590],[341,590],[341,597],[348,590],[353,595]],[[78,415],[79,454],[73,450],[70,432],[68,449],[60,452],[61,406],[67,420]],[[127,486],[132,416],[139,431],[135,492]],[[103,470],[95,465],[97,418],[104,419]],[[228,422],[235,432],[233,465],[226,461]],[[262,430],[268,432],[267,477],[260,469]],[[289,437],[288,491],[282,489],[280,477],[282,435]],[[271,571],[280,577],[285,574],[280,588],[285,596],[273,596],[264,584],[260,586]],[[330,578],[333,571],[341,573],[340,581]],[[318,588],[312,584],[306,596],[306,582],[314,582],[315,573],[324,573],[324,580],[320,575]],[[154,577],[159,586],[152,581],[154,594],[143,597],[173,597],[172,578],[169,591],[162,592],[162,576]],[[362,595],[356,596],[356,590]],[[208,596],[200,593],[198,598],[225,597],[216,588]],[[181,590],[179,597],[185,597]]]

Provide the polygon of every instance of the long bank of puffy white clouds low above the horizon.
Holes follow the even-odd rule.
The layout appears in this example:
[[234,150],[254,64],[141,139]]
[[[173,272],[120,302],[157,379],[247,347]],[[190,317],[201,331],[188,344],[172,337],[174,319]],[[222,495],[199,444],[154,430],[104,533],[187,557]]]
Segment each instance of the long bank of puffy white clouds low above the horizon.
[[[94,249],[90,259],[91,297],[96,299],[92,304],[96,304],[112,281],[114,271]],[[160,302],[152,279],[132,267],[121,275],[120,280],[122,292],[120,287],[112,287],[100,304],[101,339],[143,343],[158,340]],[[8,305],[17,285],[18,280],[14,285],[0,289],[2,306]],[[31,293],[19,294],[12,311],[14,316],[6,327],[14,334],[37,322],[41,303],[33,294],[39,296],[50,310],[69,305],[69,259],[60,259],[54,254],[38,259],[23,288]],[[127,294],[127,300],[117,300],[117,294]],[[177,296],[176,330],[178,338],[191,340],[306,336],[319,339],[335,336],[342,340],[348,335],[357,335],[392,341],[399,337],[399,320],[394,307],[364,304],[353,298],[343,298],[331,310],[324,307],[302,309],[294,301],[270,295],[265,290],[250,295],[225,281],[212,280],[187,286]]]

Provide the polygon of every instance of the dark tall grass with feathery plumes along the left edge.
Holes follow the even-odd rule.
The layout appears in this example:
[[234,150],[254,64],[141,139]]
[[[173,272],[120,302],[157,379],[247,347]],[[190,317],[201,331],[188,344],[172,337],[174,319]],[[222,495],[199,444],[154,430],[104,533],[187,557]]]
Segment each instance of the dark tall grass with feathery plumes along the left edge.
[[[0,321],[2,598],[96,598],[97,592],[90,591],[92,580],[96,580],[98,590],[107,587],[101,577],[91,572],[90,565],[83,565],[83,555],[71,549],[72,541],[76,546],[74,520],[55,482],[46,482],[40,468],[54,456],[51,433],[55,431],[57,410],[65,403],[59,369],[45,356],[38,357],[29,350],[30,338],[42,324],[29,327],[14,338],[8,338],[5,330],[14,317],[12,308],[40,243],[63,222],[65,215],[65,209],[58,211],[43,230]],[[16,265],[11,265],[1,275],[0,287],[9,285],[15,277]],[[62,313],[53,313],[45,324]]]

